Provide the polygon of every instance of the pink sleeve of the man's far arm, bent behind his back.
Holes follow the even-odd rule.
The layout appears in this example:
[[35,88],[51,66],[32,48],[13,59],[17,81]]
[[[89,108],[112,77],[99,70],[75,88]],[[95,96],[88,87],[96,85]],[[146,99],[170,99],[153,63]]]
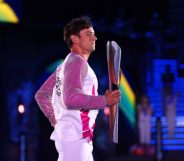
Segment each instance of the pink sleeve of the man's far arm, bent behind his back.
[[35,100],[41,111],[49,119],[52,126],[56,124],[54,109],[52,107],[52,91],[56,82],[56,73],[53,73],[36,92]]

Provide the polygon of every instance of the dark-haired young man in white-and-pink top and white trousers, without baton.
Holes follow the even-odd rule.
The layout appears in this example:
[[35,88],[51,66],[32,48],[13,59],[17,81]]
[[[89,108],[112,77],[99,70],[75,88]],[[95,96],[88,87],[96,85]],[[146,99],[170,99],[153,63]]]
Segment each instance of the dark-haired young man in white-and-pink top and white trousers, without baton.
[[64,28],[71,52],[36,93],[35,99],[54,126],[51,139],[58,161],[93,161],[92,137],[98,110],[120,101],[120,91],[98,96],[98,82],[88,64],[97,40],[88,17],[75,18]]

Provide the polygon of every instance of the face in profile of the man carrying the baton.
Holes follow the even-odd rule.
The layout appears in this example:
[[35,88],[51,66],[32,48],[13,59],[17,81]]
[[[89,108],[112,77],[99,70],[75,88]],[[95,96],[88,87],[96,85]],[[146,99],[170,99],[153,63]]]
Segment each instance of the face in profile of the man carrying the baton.
[[96,40],[94,29],[90,27],[80,31],[78,45],[83,51],[91,53],[95,50]]

